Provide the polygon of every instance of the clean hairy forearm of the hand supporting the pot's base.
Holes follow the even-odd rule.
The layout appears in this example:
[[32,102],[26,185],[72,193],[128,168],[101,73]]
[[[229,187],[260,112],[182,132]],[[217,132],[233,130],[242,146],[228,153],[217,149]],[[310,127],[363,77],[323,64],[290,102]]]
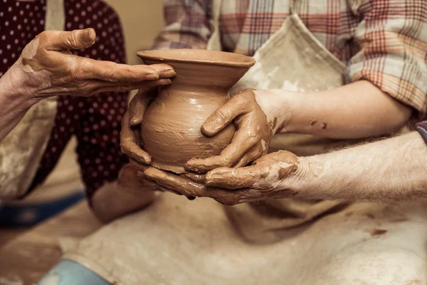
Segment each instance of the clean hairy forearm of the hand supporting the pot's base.
[[283,187],[297,197],[401,201],[427,193],[427,145],[416,132],[324,155],[300,157]]

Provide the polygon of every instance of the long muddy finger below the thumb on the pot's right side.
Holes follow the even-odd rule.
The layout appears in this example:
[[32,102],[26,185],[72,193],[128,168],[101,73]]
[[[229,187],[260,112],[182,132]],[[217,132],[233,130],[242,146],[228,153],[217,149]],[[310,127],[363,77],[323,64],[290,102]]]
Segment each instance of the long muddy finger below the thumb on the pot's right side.
[[237,130],[234,138],[220,155],[204,159],[191,159],[184,164],[186,170],[194,172],[208,172],[217,167],[231,167],[241,160],[241,157],[258,142],[258,136],[247,132],[246,128]]

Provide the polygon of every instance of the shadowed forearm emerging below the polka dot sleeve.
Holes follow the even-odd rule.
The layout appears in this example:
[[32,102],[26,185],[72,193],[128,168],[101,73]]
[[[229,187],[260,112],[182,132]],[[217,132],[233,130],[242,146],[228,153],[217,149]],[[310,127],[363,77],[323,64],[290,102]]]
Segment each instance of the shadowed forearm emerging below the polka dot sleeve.
[[110,182],[95,192],[91,202],[95,215],[107,223],[146,207],[154,201],[156,195],[156,192],[152,191],[135,191],[135,194],[132,194],[120,189],[117,182]]

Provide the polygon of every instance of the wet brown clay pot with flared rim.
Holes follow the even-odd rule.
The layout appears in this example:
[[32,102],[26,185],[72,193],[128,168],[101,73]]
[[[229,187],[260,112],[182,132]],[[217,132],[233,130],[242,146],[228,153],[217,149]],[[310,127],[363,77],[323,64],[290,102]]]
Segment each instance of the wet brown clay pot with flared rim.
[[176,49],[141,51],[145,64],[167,63],[176,71],[172,85],[159,88],[142,122],[142,147],[152,155],[152,166],[184,173],[191,158],[218,155],[236,129],[228,125],[206,137],[201,125],[229,98],[228,90],[253,66],[248,56],[221,51]]

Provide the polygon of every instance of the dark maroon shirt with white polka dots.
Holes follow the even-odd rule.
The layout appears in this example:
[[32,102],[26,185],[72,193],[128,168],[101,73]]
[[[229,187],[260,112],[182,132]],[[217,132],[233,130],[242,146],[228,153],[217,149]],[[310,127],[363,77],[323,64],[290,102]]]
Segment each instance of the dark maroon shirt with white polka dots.
[[[94,28],[96,42],[75,55],[125,63],[122,27],[116,12],[98,0],[65,0],[65,30]],[[14,64],[21,51],[44,29],[46,0],[0,0],[0,76]],[[127,162],[120,151],[120,121],[127,108],[127,93],[104,93],[91,98],[58,97],[58,110],[33,190],[46,179],[70,138],[78,139],[81,175],[92,197],[97,188],[115,180]],[[29,191],[28,191],[29,192]]]

